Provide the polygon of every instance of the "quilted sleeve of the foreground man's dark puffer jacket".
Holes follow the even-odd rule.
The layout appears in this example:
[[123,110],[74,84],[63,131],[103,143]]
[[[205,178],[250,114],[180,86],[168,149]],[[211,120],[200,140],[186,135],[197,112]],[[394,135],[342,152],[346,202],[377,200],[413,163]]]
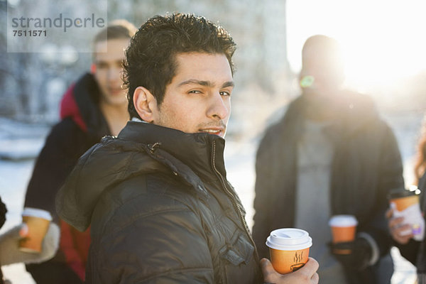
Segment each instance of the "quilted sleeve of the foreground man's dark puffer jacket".
[[[140,214],[123,213],[137,206]],[[215,283],[206,232],[190,207],[161,196],[124,207],[91,248],[87,283]]]

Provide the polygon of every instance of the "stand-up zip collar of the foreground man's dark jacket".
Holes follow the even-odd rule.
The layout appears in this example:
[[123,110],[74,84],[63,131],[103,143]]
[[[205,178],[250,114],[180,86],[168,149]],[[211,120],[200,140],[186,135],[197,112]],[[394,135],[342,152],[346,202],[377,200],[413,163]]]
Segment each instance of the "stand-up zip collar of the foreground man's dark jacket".
[[166,151],[189,166],[203,180],[217,180],[218,174],[226,179],[225,140],[222,137],[209,133],[185,133],[146,122],[129,121],[118,138],[146,144],[152,151]]

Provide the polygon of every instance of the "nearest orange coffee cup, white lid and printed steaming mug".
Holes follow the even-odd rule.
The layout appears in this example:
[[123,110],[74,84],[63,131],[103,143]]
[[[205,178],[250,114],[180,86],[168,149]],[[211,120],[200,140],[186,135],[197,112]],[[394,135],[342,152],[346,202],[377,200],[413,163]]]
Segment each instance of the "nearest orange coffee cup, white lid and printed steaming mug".
[[312,239],[307,231],[294,228],[276,229],[266,239],[275,271],[287,274],[301,268],[307,262]]

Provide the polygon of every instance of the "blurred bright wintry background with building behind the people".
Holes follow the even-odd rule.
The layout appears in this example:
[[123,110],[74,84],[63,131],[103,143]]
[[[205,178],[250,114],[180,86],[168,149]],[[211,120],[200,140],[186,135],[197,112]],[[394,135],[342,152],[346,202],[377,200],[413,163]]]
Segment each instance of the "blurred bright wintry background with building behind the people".
[[[40,2],[42,4],[35,4]],[[406,185],[413,181],[413,155],[426,107],[426,1],[379,0],[0,0],[0,196],[9,209],[5,231],[20,222],[34,159],[59,119],[65,89],[89,71],[90,53],[70,43],[46,43],[36,53],[8,53],[7,13],[36,9],[50,15],[58,5],[77,14],[107,9],[108,21],[126,18],[140,26],[155,14],[195,13],[228,30],[238,48],[236,89],[226,141],[228,178],[253,216],[254,155],[266,126],[280,118],[299,94],[301,49],[310,35],[342,44],[346,85],[370,94],[398,138]],[[86,41],[92,38],[73,40]],[[395,283],[413,283],[415,269],[393,251]],[[33,283],[22,265],[4,266],[12,283]]]

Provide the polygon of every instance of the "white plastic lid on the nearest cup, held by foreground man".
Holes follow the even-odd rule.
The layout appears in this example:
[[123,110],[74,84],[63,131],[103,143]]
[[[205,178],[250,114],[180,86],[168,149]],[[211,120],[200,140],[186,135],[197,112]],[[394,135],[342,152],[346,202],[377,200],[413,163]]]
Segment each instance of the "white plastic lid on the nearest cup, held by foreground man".
[[312,238],[307,231],[295,228],[276,229],[266,239],[266,246],[280,251],[297,251],[312,246]]

